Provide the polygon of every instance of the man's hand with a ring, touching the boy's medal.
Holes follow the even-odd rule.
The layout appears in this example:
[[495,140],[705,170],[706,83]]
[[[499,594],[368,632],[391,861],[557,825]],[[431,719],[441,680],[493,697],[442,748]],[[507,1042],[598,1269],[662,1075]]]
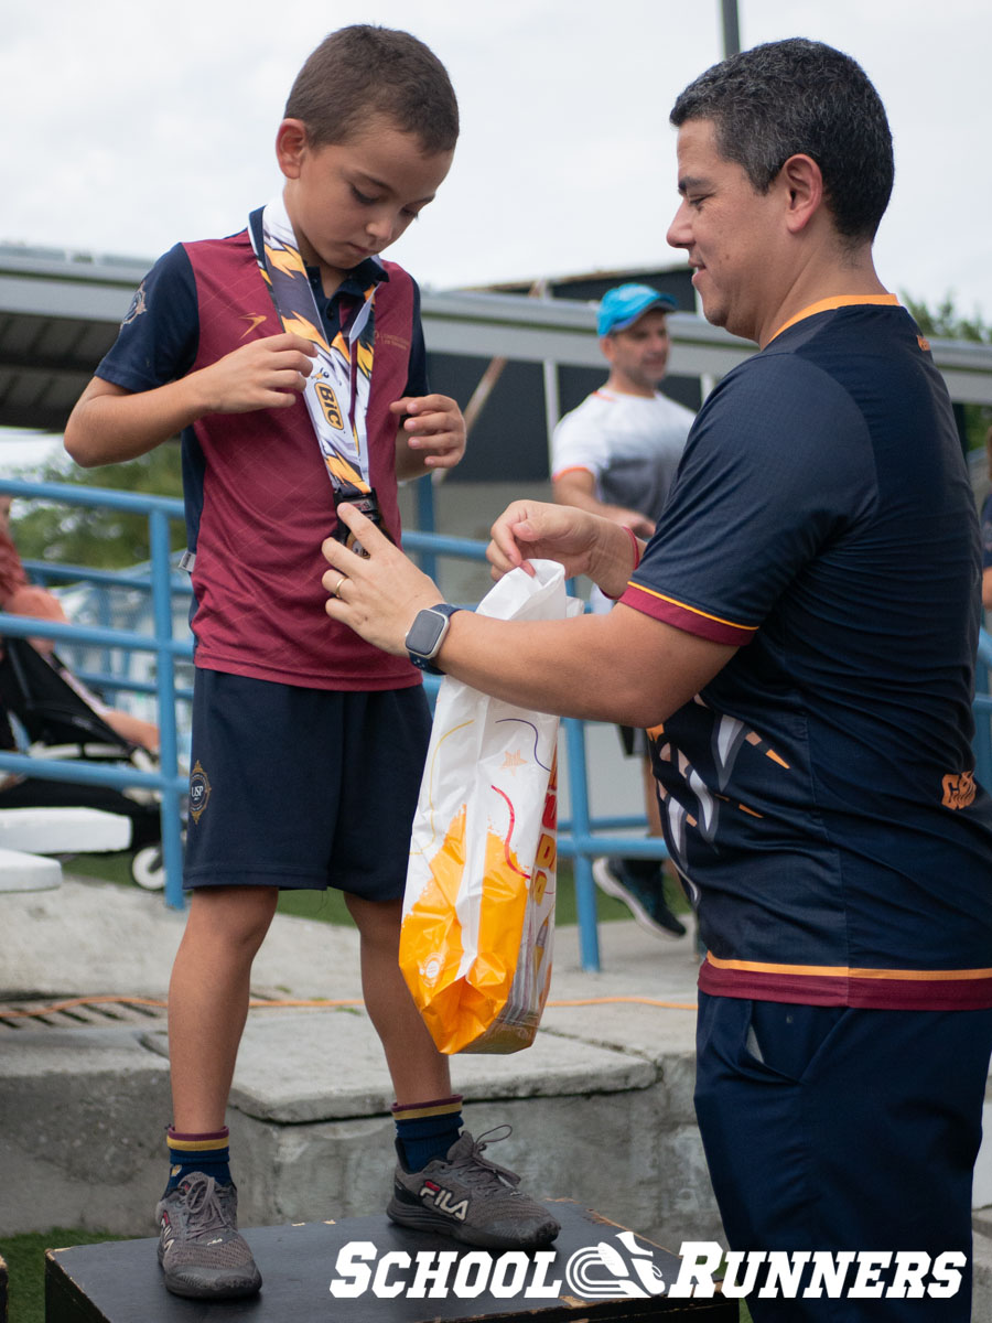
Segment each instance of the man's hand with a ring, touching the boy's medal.
[[331,594],[327,614],[384,652],[406,656],[406,634],[418,611],[443,602],[439,589],[354,505],[337,517],[368,552],[356,556],[335,537],[320,548],[331,565],[321,583]]

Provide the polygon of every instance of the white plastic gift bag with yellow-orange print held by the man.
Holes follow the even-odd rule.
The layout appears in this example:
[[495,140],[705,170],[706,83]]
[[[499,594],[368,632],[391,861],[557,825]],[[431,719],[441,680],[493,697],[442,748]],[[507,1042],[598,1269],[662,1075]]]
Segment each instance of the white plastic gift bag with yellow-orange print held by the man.
[[[582,611],[554,561],[479,603],[503,620]],[[446,676],[410,841],[399,966],[442,1052],[529,1046],[548,999],[558,718]]]

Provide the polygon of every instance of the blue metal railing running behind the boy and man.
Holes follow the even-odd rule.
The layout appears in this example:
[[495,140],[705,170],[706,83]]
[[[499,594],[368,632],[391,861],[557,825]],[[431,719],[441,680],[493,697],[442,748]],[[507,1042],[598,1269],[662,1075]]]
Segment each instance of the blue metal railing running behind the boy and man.
[[[436,577],[439,557],[458,557],[484,561],[485,545],[460,537],[446,537],[433,532],[434,515],[430,479],[418,483],[418,517],[422,527],[403,532],[403,545],[414,552],[425,573]],[[128,587],[148,591],[152,599],[152,635],[107,626],[57,624],[26,617],[3,615],[3,632],[17,638],[38,636],[69,644],[94,644],[120,648],[124,652],[151,652],[156,658],[155,683],[130,680],[111,673],[81,673],[103,689],[152,692],[157,696],[160,730],[160,769],[157,773],[132,767],[101,766],[97,763],[61,759],[29,758],[24,754],[0,751],[0,770],[28,774],[53,781],[75,781],[90,785],[126,789],[140,786],[155,790],[161,796],[161,839],[165,867],[165,901],[183,908],[183,849],[181,802],[186,791],[179,775],[176,701],[188,697],[189,691],[176,685],[176,662],[192,660],[192,640],[175,639],[172,634],[173,595],[189,595],[189,581],[172,572],[169,549],[169,520],[183,517],[183,503],[161,496],[136,496],[116,491],[82,488],[56,483],[30,483],[0,479],[0,492],[13,496],[60,501],[69,505],[110,508],[145,515],[151,560],[147,568],[114,573],[82,566],[56,566],[45,561],[28,561],[26,568],[48,582],[90,582],[104,587]],[[983,630],[979,642],[976,675],[976,774],[987,787],[992,787],[992,697],[989,697],[989,668],[992,668],[992,638]],[[434,700],[439,679],[426,677],[427,693]],[[595,886],[593,859],[599,855],[624,855],[641,859],[667,859],[664,841],[659,837],[610,835],[630,830],[643,831],[643,815],[630,818],[594,818],[589,803],[589,775],[586,765],[586,724],[566,718],[562,722],[566,745],[570,816],[559,823],[558,851],[574,861],[575,898],[579,922],[579,949],[586,970],[599,968],[599,939],[597,931]]]

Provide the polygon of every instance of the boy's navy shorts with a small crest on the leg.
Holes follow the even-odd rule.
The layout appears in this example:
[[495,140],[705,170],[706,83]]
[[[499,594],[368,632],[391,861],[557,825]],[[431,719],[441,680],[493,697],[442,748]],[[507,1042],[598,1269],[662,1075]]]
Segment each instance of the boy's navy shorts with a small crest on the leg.
[[303,689],[197,669],[184,888],[402,896],[430,730],[421,685]]

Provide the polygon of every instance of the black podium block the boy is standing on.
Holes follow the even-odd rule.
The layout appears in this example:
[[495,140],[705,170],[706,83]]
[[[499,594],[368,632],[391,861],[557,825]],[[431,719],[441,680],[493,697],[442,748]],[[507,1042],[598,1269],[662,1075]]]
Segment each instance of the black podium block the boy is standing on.
[[[247,1229],[243,1234],[263,1278],[261,1295],[249,1301],[171,1295],[161,1282],[153,1240],[49,1250],[45,1320],[619,1323],[671,1318],[672,1323],[737,1323],[737,1301],[647,1293],[640,1283],[652,1281],[652,1273],[667,1287],[676,1282],[680,1259],[675,1254],[578,1204],[556,1200],[549,1207],[562,1224],[561,1234],[548,1250],[529,1256],[472,1250],[394,1226],[382,1215]],[[418,1270],[423,1277],[415,1298],[411,1287]],[[460,1298],[455,1294],[459,1282]],[[341,1294],[343,1287],[351,1294]]]

